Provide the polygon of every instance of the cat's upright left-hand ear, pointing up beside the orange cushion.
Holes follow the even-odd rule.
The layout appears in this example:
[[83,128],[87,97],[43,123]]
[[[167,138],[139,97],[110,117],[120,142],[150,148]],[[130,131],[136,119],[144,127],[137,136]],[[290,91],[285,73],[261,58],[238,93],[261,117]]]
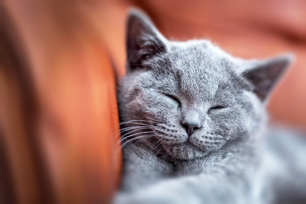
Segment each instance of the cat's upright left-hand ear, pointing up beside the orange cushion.
[[141,67],[144,60],[166,52],[166,39],[147,15],[138,9],[129,12],[126,49],[130,69]]

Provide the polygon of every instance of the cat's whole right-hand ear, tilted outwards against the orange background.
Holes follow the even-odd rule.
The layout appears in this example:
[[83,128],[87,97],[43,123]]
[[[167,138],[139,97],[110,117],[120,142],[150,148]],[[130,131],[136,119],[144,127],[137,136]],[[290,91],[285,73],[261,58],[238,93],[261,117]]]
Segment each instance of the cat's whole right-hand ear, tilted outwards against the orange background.
[[253,92],[264,102],[293,59],[293,54],[284,54],[266,60],[244,61],[242,76],[251,83]]

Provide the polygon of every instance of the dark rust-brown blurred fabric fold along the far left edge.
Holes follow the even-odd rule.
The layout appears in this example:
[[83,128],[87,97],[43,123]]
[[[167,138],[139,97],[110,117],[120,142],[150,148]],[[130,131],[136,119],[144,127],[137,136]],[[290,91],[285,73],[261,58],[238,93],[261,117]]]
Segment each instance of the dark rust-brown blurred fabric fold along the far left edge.
[[[16,58],[0,34],[0,203],[41,201],[38,169],[27,127]],[[5,38],[7,40],[7,38]]]

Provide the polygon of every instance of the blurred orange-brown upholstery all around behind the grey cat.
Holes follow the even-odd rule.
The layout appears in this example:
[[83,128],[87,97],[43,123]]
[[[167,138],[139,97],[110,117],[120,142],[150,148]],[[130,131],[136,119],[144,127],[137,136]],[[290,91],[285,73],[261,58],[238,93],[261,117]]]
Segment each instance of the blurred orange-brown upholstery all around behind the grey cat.
[[268,109],[271,124],[306,129],[304,0],[2,0],[0,203],[110,201],[131,6],[169,39],[210,39],[243,58],[296,54]]

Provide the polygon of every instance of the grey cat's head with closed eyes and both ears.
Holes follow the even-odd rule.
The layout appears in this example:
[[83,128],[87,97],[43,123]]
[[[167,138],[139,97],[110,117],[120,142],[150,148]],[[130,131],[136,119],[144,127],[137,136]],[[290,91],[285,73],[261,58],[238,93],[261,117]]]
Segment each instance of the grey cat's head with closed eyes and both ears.
[[133,10],[118,88],[123,145],[181,160],[235,145],[262,129],[264,104],[291,60],[242,60],[207,40],[171,42]]

